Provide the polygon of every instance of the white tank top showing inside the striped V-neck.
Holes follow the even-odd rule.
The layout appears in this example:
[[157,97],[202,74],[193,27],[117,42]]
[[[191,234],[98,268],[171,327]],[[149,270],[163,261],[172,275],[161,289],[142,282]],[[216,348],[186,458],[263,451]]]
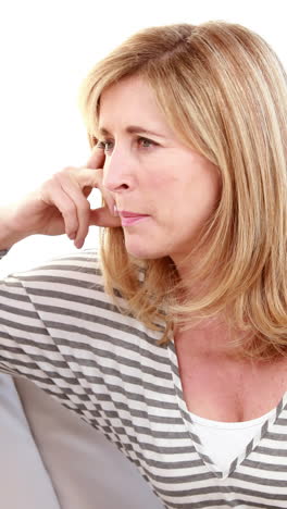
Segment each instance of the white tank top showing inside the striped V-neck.
[[245,450],[249,442],[258,434],[263,422],[275,412],[276,408],[258,419],[244,422],[211,421],[192,412],[189,414],[205,454],[221,472],[226,472],[232,461]]

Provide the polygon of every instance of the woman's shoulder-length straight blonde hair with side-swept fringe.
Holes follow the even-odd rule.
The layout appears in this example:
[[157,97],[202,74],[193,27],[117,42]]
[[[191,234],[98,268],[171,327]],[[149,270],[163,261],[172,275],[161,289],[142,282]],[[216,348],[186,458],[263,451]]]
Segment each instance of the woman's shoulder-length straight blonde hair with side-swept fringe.
[[235,342],[244,356],[285,355],[287,76],[278,57],[258,34],[224,21],[142,29],[83,83],[91,147],[102,91],[133,75],[151,85],[178,137],[217,166],[222,191],[185,260],[189,281],[197,287],[208,278],[208,291],[190,295],[170,257],[130,257],[121,227],[101,232],[105,290],[120,291],[135,318],[161,330],[162,344],[175,324],[224,315],[230,330],[245,332]]

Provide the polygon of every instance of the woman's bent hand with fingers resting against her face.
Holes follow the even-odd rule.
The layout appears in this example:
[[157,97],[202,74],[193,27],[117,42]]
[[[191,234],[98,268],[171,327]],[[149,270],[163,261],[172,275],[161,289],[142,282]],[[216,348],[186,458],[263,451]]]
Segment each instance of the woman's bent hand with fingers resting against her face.
[[[10,207],[5,229],[11,238],[28,235],[66,235],[83,247],[90,225],[121,226],[114,215],[114,199],[102,187],[104,152],[95,147],[86,166],[67,166],[54,173],[38,189]],[[91,210],[87,200],[92,188],[102,193],[104,207]],[[5,212],[8,212],[5,210]]]

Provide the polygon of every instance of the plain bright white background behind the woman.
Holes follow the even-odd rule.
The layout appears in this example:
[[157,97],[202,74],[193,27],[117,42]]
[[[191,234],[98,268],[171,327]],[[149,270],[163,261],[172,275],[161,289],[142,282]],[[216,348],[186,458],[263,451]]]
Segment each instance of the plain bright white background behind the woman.
[[[85,164],[89,146],[78,87],[90,67],[129,35],[152,25],[225,20],[258,32],[286,65],[285,9],[284,0],[2,0],[0,206],[68,164]],[[92,227],[84,249],[95,244]],[[65,236],[33,236],[11,249],[0,272],[28,269],[71,250],[76,249]]]

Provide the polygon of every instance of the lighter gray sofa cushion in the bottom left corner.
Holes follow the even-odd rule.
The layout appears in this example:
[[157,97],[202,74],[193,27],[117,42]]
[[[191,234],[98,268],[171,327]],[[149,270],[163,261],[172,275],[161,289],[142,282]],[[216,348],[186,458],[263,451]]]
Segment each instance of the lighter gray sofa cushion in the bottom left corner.
[[0,507],[61,509],[13,380],[0,374]]

